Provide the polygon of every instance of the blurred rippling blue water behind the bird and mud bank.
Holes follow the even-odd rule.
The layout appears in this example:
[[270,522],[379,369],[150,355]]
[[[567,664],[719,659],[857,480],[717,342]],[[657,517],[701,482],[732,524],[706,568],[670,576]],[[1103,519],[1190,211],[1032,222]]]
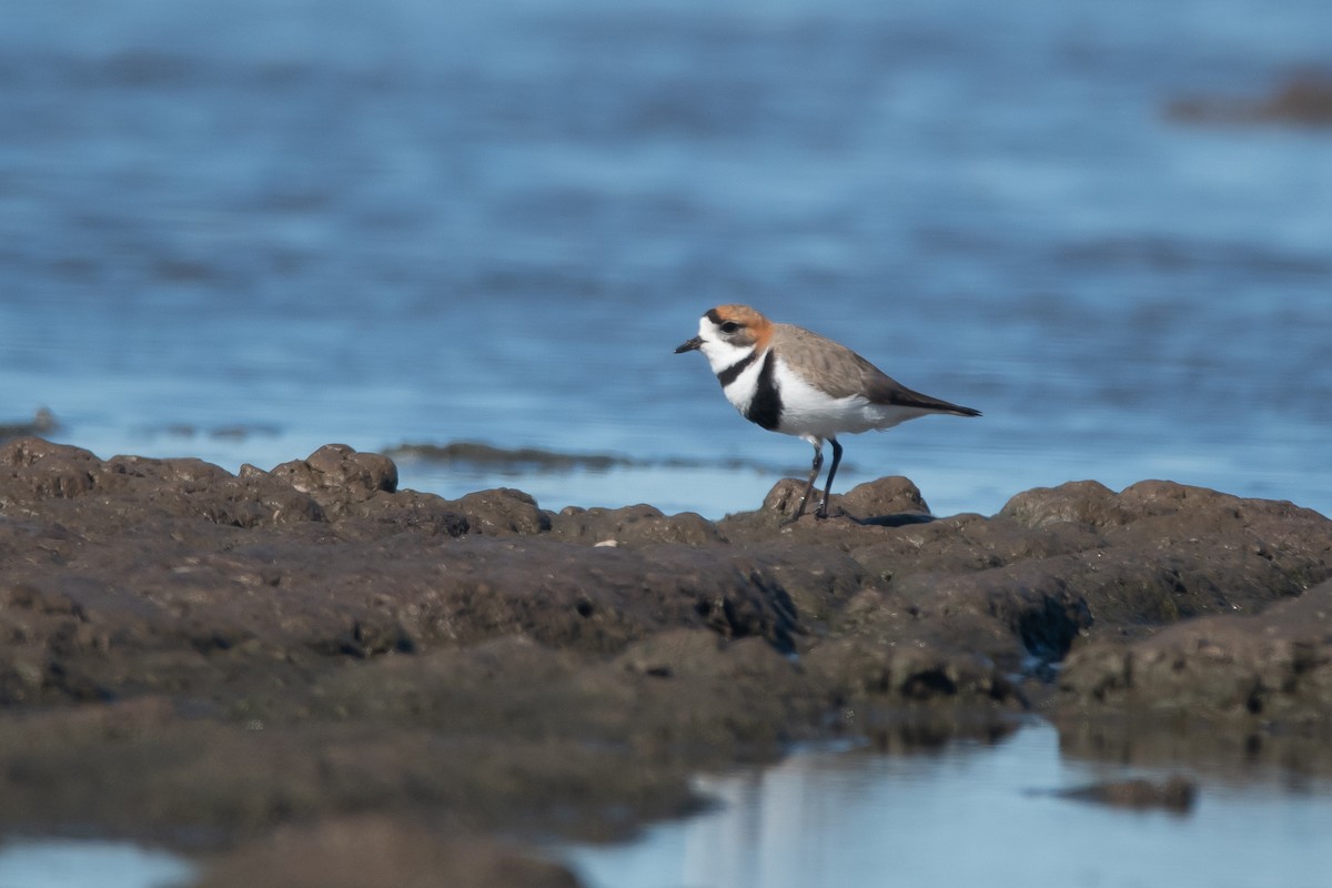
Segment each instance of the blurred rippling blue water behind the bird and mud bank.
[[984,410],[847,439],[847,486],[1332,513],[1332,129],[1167,113],[1329,59],[1325,0],[17,0],[0,422],[621,454],[401,483],[719,517],[810,455],[671,354],[747,302]]

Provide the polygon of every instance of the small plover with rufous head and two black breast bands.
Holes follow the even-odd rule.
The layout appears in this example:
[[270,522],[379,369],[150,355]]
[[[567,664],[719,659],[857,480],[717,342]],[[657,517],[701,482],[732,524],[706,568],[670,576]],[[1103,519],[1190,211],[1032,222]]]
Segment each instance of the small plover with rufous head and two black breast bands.
[[790,324],[774,324],[747,305],[718,305],[698,322],[698,335],[675,354],[702,351],[726,399],[750,422],[814,445],[814,465],[794,522],[805,514],[823,467],[823,442],[832,465],[823,499],[814,510],[827,518],[829,491],[842,462],[840,433],[883,430],[930,413],[979,417],[979,410],[912,391],[859,354]]

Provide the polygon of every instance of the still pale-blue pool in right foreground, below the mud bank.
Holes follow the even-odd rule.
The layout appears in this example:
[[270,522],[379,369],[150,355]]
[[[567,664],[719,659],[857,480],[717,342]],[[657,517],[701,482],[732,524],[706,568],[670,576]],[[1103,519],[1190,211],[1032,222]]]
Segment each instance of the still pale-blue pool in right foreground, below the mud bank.
[[1062,758],[1050,726],[914,755],[805,754],[701,781],[718,800],[709,813],[563,857],[589,888],[1328,884],[1328,785],[1280,771],[1203,775],[1183,815],[1050,795],[1168,774],[1188,771]]

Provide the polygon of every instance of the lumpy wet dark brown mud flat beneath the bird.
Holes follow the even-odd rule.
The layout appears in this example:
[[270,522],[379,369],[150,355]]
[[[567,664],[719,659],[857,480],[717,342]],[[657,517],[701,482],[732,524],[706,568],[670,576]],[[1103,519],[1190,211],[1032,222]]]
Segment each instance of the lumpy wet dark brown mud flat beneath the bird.
[[396,487],[336,445],[238,475],[3,445],[0,828],[165,841],[209,885],[571,885],[525,843],[803,739],[1035,712],[1072,755],[1332,772],[1332,522],[1291,503],[1078,482],[931,519],[886,478],[782,527],[793,482],[719,522]]

